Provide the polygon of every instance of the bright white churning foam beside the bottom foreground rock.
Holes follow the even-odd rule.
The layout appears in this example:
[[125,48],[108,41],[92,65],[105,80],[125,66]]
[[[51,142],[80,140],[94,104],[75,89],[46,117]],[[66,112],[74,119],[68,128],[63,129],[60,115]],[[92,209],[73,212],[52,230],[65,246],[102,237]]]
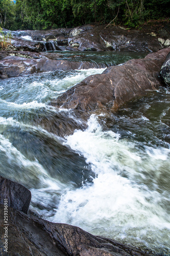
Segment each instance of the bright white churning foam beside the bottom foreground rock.
[[88,125],[85,131],[68,136],[66,144],[86,158],[96,178],[93,185],[63,194],[50,220],[139,246],[168,247],[170,217],[162,202],[169,203],[169,197],[166,191],[150,189],[142,179],[150,171],[160,176],[161,164],[169,167],[170,150],[147,147],[140,152],[135,142],[102,131],[94,115]]

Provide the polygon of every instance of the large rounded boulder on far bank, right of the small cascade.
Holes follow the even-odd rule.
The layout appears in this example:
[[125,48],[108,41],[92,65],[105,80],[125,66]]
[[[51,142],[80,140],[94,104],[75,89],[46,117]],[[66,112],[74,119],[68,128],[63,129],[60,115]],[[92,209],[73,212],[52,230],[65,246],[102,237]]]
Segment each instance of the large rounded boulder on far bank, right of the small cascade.
[[68,41],[70,46],[77,45],[80,51],[95,49],[155,52],[166,47],[160,43],[156,34],[153,36],[151,33],[117,26],[80,26],[70,31]]

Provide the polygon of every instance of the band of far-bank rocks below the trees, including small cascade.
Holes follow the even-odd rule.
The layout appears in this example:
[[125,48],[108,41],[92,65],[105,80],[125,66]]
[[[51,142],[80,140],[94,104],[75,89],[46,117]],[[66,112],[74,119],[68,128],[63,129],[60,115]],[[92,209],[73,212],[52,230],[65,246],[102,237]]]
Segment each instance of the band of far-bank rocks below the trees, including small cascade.
[[[9,31],[5,31],[9,33]],[[47,31],[11,31],[12,46],[20,51],[65,50],[61,47],[74,47],[79,51],[158,51],[169,46],[169,32],[166,26],[156,33],[127,30],[118,26],[84,25],[74,29]],[[164,40],[158,40],[161,38]],[[49,44],[47,44],[49,42]],[[74,50],[67,48],[67,50]]]

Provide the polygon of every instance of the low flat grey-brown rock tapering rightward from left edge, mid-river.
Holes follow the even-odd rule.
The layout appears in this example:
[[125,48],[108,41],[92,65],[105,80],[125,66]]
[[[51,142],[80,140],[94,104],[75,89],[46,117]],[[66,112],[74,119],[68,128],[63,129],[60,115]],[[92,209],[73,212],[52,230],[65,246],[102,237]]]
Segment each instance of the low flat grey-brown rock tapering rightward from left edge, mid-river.
[[54,70],[105,68],[104,63],[68,61],[61,54],[4,51],[0,55],[0,78]]

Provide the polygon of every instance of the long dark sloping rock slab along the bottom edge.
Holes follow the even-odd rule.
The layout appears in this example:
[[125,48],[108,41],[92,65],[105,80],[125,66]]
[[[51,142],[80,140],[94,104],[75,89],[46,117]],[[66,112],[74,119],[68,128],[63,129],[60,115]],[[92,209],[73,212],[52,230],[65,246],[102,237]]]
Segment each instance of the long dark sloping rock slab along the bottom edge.
[[[0,216],[4,206],[0,205]],[[79,227],[52,223],[8,208],[8,254],[4,253],[4,219],[0,219],[1,255],[141,256],[152,255],[131,246],[100,238]]]

